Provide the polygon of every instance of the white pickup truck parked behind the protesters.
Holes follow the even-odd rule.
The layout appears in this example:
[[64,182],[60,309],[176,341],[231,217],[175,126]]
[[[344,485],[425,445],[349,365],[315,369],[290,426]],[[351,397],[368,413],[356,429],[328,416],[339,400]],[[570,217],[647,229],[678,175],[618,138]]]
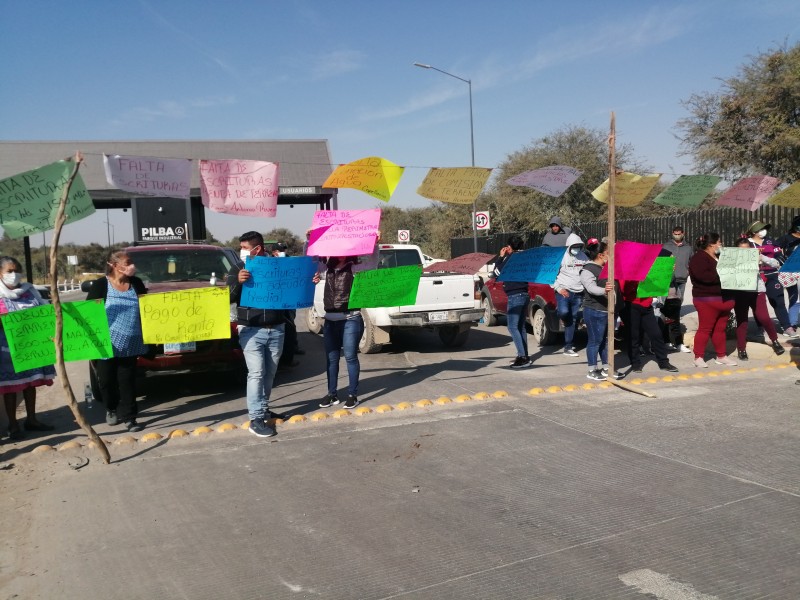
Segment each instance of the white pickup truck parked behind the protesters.
[[[380,244],[378,268],[422,265],[419,246]],[[306,324],[312,333],[320,333],[325,318],[322,303],[324,282],[317,284],[314,306],[306,310]],[[423,273],[413,306],[363,308],[364,335],[358,345],[362,354],[380,352],[396,329],[435,329],[445,346],[461,346],[469,330],[483,317],[481,281],[459,273]]]

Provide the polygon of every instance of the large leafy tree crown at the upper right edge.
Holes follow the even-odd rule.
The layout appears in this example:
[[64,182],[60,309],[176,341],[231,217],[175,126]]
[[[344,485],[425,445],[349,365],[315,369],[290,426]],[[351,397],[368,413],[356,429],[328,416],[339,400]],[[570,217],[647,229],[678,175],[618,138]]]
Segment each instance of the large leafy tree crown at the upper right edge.
[[699,171],[800,178],[800,44],[751,58],[720,91],[683,105],[690,116],[678,121],[679,137]]

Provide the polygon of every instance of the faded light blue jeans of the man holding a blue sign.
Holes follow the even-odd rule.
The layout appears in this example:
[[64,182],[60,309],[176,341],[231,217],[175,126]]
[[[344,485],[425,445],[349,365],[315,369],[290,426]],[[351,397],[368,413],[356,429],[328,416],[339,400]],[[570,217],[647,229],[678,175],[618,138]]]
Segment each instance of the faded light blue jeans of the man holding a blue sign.
[[283,324],[274,327],[242,327],[239,343],[247,363],[247,412],[250,420],[269,413],[269,396],[283,352]]

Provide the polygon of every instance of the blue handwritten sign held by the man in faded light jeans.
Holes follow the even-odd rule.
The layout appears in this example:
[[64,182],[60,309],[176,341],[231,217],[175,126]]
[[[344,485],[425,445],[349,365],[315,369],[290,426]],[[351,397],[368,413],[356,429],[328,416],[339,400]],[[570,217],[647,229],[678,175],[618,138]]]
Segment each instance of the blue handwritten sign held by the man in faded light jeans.
[[250,279],[242,285],[241,306],[291,310],[314,304],[317,264],[310,256],[254,256],[245,269]]

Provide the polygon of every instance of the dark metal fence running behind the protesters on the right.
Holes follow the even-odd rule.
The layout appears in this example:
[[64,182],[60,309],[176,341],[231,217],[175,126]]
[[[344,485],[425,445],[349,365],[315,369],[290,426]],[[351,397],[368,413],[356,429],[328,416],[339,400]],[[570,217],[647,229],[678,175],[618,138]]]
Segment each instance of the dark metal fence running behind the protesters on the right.
[[[711,208],[696,210],[681,215],[664,217],[648,217],[645,219],[618,220],[617,239],[641,242],[643,244],[661,244],[667,241],[676,225],[683,227],[687,240],[695,240],[703,233],[716,231],[722,236],[722,241],[727,246],[732,246],[744,230],[753,221],[770,223],[770,234],[779,237],[789,231],[792,219],[800,213],[797,209],[781,206],[766,205],[751,212],[740,208]],[[573,231],[584,240],[590,237],[602,238],[608,233],[607,221],[593,221],[590,223],[570,224]],[[495,233],[478,238],[478,252],[497,254],[500,248],[512,235],[520,235],[525,240],[525,247],[532,248],[542,243],[546,231],[525,231]],[[451,257],[473,252],[474,241],[469,238],[453,238],[450,240]]]

